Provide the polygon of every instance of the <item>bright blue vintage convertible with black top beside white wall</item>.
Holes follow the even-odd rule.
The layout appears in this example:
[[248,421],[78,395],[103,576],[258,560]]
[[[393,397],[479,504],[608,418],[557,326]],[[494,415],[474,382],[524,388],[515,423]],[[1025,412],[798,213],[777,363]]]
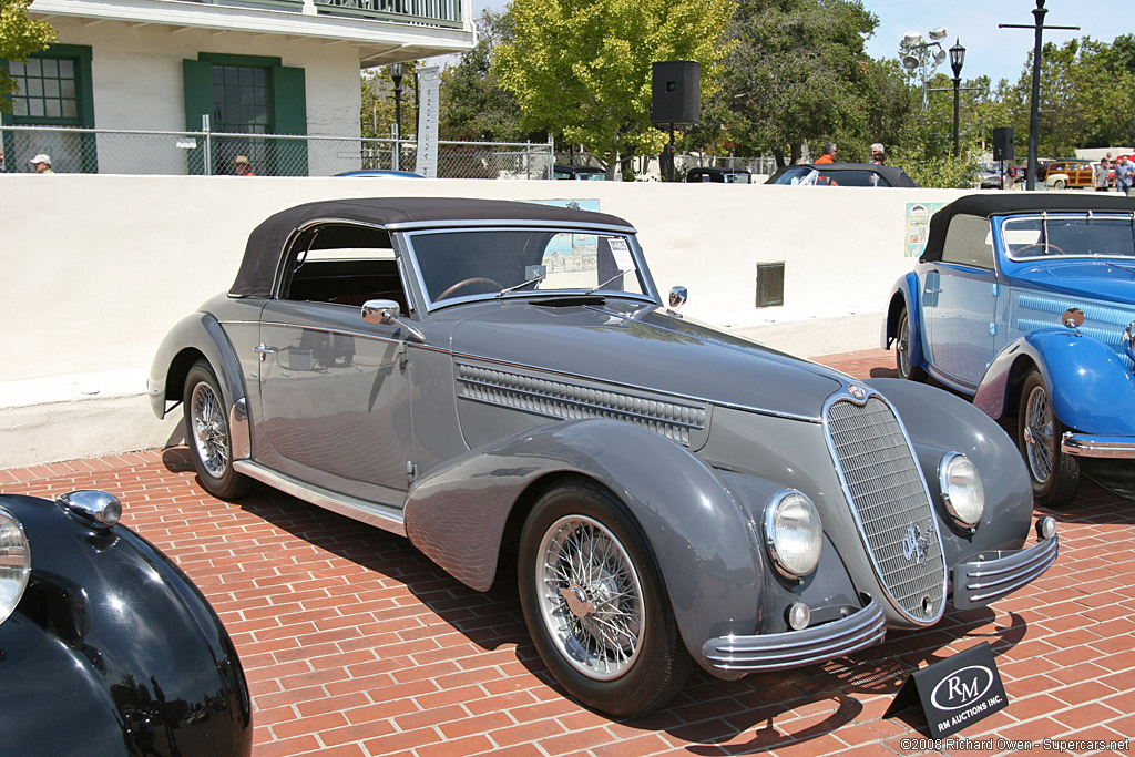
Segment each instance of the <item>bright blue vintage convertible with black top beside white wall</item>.
[[1016,417],[1033,493],[1067,504],[1082,466],[1135,480],[1135,200],[975,194],[931,220],[894,285],[883,346],[994,419]]

